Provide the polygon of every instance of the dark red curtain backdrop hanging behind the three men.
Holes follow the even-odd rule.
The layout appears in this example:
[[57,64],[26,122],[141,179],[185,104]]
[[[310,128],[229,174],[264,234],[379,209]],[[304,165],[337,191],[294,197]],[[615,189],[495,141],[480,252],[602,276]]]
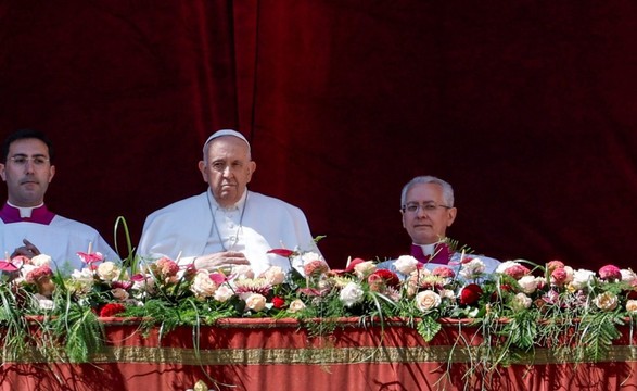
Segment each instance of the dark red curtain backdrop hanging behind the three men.
[[[406,252],[399,192],[456,189],[480,253],[632,266],[637,4],[1,1],[0,129],[47,131],[58,213],[133,241],[203,191],[237,127],[251,188],[301,206],[333,266]],[[2,191],[5,197],[5,191]]]

